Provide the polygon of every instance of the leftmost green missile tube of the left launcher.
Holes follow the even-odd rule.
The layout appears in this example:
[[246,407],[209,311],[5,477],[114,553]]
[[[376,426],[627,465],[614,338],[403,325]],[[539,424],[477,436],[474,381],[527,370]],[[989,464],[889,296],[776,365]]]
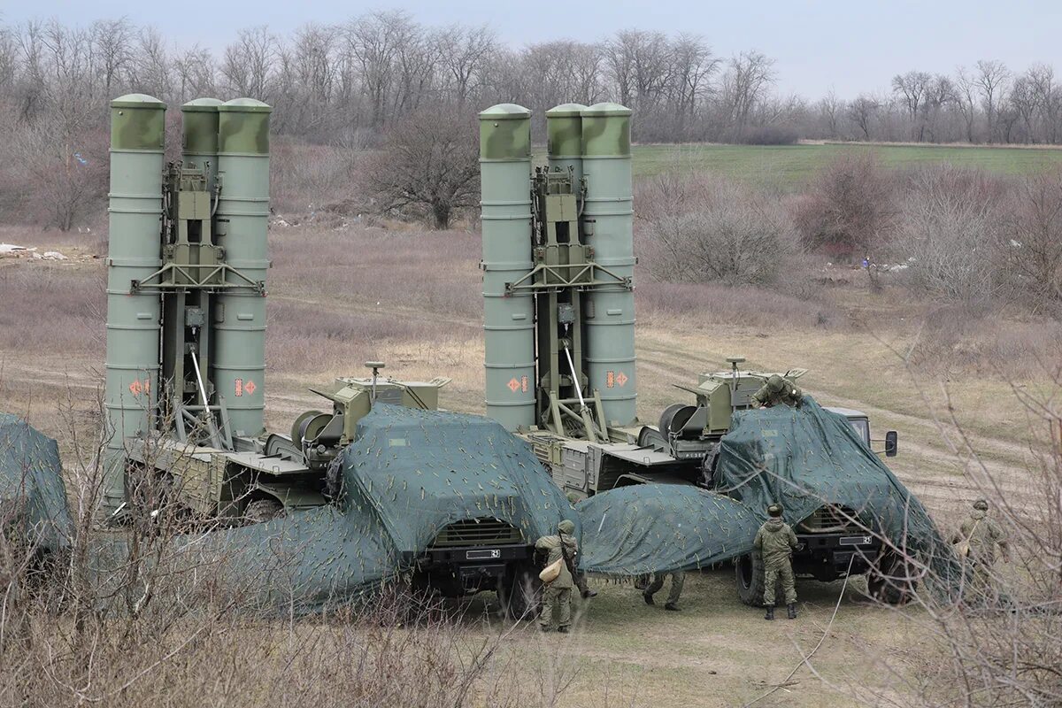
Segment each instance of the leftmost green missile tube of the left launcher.
[[142,93],[112,101],[104,514],[125,499],[125,438],[153,427],[157,403],[161,304],[132,282],[162,263],[165,141],[165,103]]

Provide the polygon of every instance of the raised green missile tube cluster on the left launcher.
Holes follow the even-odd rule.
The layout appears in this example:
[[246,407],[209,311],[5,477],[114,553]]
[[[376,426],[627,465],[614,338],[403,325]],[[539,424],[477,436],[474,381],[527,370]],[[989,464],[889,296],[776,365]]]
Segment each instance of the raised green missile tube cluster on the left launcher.
[[185,104],[167,166],[166,104],[110,107],[104,514],[125,500],[131,438],[239,449],[264,431],[269,267],[271,108]]

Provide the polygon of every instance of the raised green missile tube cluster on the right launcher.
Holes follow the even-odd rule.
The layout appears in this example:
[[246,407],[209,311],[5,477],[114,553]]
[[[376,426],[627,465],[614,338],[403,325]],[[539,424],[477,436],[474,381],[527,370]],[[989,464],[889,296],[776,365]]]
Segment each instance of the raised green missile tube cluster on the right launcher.
[[636,419],[631,111],[550,109],[533,172],[531,111],[479,118],[487,415],[606,439]]

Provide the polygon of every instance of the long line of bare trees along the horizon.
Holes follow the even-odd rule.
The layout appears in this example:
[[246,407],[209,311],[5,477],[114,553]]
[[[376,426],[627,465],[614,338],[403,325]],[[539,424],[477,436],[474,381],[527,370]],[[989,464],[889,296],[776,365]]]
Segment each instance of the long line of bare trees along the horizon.
[[56,19],[0,24],[0,110],[45,115],[76,132],[126,91],[171,105],[251,96],[276,108],[275,129],[312,141],[369,144],[426,106],[473,111],[512,101],[618,101],[637,111],[640,141],[786,142],[796,138],[1056,143],[1062,85],[1054,68],[1024,72],[981,61],[950,75],[911,70],[888,88],[846,100],[781,93],[763,52],[717,55],[697,34],[623,30],[600,41],[511,48],[486,25],[428,27],[402,11],[371,12],[280,35],[240,30],[219,56],[174,47],[129,19],[71,27]]

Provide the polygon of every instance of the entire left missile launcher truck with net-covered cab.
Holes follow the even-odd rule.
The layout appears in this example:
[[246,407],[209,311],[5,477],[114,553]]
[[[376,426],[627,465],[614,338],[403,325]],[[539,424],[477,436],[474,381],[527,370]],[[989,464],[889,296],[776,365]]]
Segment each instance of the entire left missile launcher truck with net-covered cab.
[[329,405],[289,434],[266,430],[271,108],[186,104],[169,165],[165,110],[112,103],[106,518],[179,514],[252,571],[299,538],[310,604],[405,576],[446,595],[498,590],[526,615],[533,543],[571,507],[500,426],[438,410],[449,379],[369,362],[370,377],[311,390]]

